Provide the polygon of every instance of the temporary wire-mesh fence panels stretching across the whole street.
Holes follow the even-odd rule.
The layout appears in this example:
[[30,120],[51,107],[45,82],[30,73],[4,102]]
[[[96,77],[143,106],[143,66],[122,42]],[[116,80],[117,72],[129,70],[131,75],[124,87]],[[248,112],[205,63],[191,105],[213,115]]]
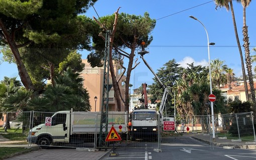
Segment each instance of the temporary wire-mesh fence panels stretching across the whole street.
[[[12,141],[19,141],[31,145],[35,142],[29,130],[35,126],[40,131],[49,133],[49,135],[41,136],[37,139],[38,144],[47,147],[49,141],[51,145],[61,147],[89,147],[89,148],[106,148],[112,147],[151,147],[161,150],[161,148],[172,147],[172,144],[180,145],[204,145],[198,143],[193,138],[193,135],[210,135],[211,144],[213,144],[213,130],[211,115],[205,116],[174,116],[167,115],[174,120],[174,130],[165,130],[164,124],[161,122],[163,115],[155,115],[154,117],[146,118],[142,121],[139,118],[147,117],[148,114],[136,117],[139,122],[144,123],[144,126],[135,127],[132,132],[127,128],[128,115],[125,113],[109,113],[107,118],[107,128],[102,130],[100,134],[100,127],[105,122],[100,122],[102,116],[96,112],[72,112],[59,113],[58,116],[52,117],[53,112],[0,112],[0,133],[4,136],[8,134],[8,143]],[[47,124],[47,118],[50,119],[51,124]],[[69,117],[69,118],[67,118]],[[69,119],[69,120],[67,120]],[[227,139],[229,144],[255,142],[255,132],[253,125],[253,116],[251,112],[237,113],[237,114],[218,114],[214,115],[214,133],[215,138]],[[155,123],[157,126],[150,126],[150,123]],[[72,124],[72,125],[70,125]],[[47,126],[49,125],[49,126]],[[138,124],[139,125],[139,124]],[[71,127],[68,127],[71,126]],[[122,140],[105,142],[105,145],[98,143],[100,136],[106,138],[111,127],[114,127],[116,132],[120,135]],[[156,129],[155,129],[156,128]],[[42,130],[41,130],[42,129]],[[139,134],[138,132],[142,133]],[[52,137],[51,135],[54,135]],[[66,143],[69,142],[69,143]],[[0,144],[7,142],[0,142]],[[110,145],[111,144],[111,145]]]

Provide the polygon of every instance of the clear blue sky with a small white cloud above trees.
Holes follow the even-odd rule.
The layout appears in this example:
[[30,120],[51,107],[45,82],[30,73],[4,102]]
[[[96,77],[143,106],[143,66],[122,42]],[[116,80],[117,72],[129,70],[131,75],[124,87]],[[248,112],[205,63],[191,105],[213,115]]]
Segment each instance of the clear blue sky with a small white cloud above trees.
[[[235,76],[242,75],[231,12],[227,12],[225,8],[215,10],[214,1],[98,0],[94,5],[100,17],[112,15],[119,7],[121,7],[119,13],[143,16],[145,12],[148,12],[152,19],[157,20],[156,27],[152,32],[154,40],[147,48],[150,53],[144,56],[155,72],[172,59],[175,59],[183,67],[186,67],[186,63],[192,62],[195,65],[208,65],[207,36],[203,26],[198,21],[189,18],[189,16],[194,16],[204,24],[208,32],[209,42],[215,43],[215,46],[210,47],[210,59],[218,58],[225,61],[225,64],[234,70]],[[242,6],[233,2],[233,7],[240,44],[242,45]],[[256,9],[256,2],[252,1],[246,9],[250,49],[256,46],[254,9]],[[96,12],[91,7],[85,15],[90,18],[92,16],[97,18]],[[81,52],[81,54],[82,58],[86,59],[87,52]],[[251,55],[255,55],[255,53],[251,53]],[[134,85],[132,89],[140,87],[142,83],[149,85],[153,83],[154,75],[139,56],[138,58],[141,63],[132,72],[130,82]],[[4,76],[18,76],[16,65],[2,63],[0,65],[0,80]]]

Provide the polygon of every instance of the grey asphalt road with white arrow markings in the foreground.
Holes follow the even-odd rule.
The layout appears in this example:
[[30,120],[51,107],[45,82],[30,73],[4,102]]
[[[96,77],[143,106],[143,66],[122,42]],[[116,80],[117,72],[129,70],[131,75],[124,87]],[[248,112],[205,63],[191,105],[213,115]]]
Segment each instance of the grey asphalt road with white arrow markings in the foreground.
[[[186,139],[188,138],[188,139]],[[161,145],[162,152],[154,151],[151,142],[141,142],[141,148],[115,148],[117,156],[104,155],[101,159],[223,159],[223,160],[251,160],[256,158],[255,149],[224,149],[223,147],[210,146],[189,137],[180,137],[176,142]],[[171,139],[170,139],[171,140]],[[173,140],[172,140],[173,141]],[[189,142],[188,142],[189,141]],[[157,148],[157,145],[156,145]],[[112,154],[111,154],[112,155]]]

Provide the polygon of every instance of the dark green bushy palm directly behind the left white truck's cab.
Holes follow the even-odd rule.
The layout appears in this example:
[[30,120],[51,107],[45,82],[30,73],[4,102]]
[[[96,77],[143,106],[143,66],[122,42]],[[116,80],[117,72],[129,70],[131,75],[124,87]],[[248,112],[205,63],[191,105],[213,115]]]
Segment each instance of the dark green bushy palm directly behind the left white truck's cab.
[[33,97],[30,106],[37,111],[89,111],[89,94],[82,87],[82,81],[78,73],[73,73],[71,68],[63,71],[54,78],[55,85],[48,85],[42,95]]

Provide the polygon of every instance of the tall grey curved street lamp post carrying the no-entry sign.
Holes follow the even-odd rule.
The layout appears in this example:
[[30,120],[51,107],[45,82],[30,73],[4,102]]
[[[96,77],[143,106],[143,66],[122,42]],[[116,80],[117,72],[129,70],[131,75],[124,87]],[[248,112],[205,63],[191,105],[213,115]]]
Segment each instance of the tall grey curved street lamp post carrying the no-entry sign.
[[[203,27],[203,23],[199,21],[197,18],[193,16],[189,16],[190,18],[198,21]],[[208,32],[206,28],[204,27],[204,30],[206,32],[207,36],[207,46],[208,46],[208,59],[209,59],[209,79],[210,79],[210,94],[212,94],[212,84],[211,84],[211,63],[210,63],[210,48],[209,45],[215,45],[215,43],[209,43],[209,37],[208,37]],[[212,120],[212,138],[215,138],[215,128],[214,128],[214,113],[213,113],[213,102],[211,102],[211,120]]]

